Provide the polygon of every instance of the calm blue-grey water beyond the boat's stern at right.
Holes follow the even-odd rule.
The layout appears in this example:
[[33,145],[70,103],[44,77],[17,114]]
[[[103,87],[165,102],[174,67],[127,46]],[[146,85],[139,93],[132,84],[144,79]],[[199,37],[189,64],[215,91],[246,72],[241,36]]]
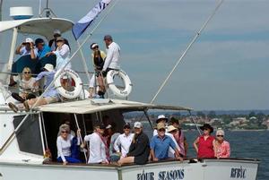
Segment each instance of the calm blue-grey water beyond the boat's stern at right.
[[[226,131],[230,141],[231,158],[251,158],[261,160],[257,180],[269,180],[269,131],[230,132]],[[188,157],[195,157],[193,141],[197,132],[185,132],[189,144]]]

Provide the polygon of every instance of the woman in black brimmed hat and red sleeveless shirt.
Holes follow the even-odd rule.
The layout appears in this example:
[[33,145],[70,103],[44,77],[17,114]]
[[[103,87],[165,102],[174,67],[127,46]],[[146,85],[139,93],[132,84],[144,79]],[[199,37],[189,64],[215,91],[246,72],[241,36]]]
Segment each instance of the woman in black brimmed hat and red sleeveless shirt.
[[203,131],[203,134],[194,141],[197,157],[198,159],[212,159],[215,157],[215,138],[211,135],[213,133],[213,127],[210,124],[204,124],[200,129]]

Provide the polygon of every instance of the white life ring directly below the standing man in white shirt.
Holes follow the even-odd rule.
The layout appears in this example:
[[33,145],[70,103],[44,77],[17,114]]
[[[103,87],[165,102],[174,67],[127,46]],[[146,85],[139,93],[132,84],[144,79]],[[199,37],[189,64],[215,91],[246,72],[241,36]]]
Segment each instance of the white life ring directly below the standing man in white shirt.
[[[117,89],[115,82],[114,82],[114,76],[118,75],[125,84],[125,89],[120,90]],[[107,82],[108,82],[108,88],[117,96],[120,98],[126,98],[132,91],[133,84],[131,83],[131,80],[129,76],[122,70],[110,70],[107,74]]]

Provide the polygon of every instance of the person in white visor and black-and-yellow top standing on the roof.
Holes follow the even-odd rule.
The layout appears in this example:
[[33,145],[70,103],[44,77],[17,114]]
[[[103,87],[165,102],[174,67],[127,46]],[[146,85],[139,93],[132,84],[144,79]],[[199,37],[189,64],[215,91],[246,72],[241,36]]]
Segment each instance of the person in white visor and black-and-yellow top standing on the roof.
[[[90,87],[89,87],[89,93],[90,96],[89,98],[92,98],[93,90],[94,90],[94,84],[95,84],[95,79],[98,81],[98,85],[100,87],[100,92],[98,92],[99,96],[103,96],[105,92],[105,86],[103,79],[101,78],[100,71],[103,69],[106,54],[99,49],[99,45],[97,43],[92,43],[91,44],[91,58],[92,58],[92,64],[94,67],[95,74],[91,76],[91,81],[90,81]],[[100,97],[103,98],[103,97]]]

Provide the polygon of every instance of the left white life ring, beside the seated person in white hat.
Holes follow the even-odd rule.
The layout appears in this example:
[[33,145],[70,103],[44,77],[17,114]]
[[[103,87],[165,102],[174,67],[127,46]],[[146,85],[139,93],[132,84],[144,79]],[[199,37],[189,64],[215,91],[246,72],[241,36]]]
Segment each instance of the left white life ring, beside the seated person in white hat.
[[[70,77],[71,79],[74,80],[74,83],[75,83],[74,90],[69,91],[69,90],[65,90],[65,88],[62,87],[61,79],[63,78],[63,76]],[[65,97],[66,99],[75,99],[82,92],[82,80],[79,74],[75,73],[71,69],[65,69],[62,73],[60,73],[60,75],[57,77],[56,81],[54,82],[54,85],[56,89],[58,90],[59,94]]]

